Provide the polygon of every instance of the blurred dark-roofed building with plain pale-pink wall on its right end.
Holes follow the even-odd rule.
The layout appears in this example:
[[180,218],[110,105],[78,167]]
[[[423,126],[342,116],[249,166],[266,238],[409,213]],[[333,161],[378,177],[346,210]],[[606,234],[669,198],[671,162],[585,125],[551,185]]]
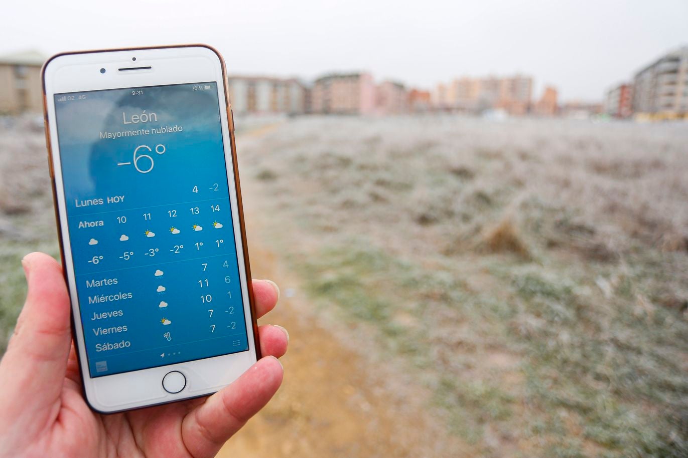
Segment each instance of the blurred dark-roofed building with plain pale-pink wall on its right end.
[[369,73],[331,73],[313,84],[313,113],[371,115],[376,104],[376,86]]

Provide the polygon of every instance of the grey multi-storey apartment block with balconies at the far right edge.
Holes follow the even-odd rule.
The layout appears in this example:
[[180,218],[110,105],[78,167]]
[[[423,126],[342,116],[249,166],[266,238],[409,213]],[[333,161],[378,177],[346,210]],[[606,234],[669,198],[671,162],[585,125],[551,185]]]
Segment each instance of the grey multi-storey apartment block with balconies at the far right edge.
[[688,115],[688,46],[669,52],[636,73],[634,113],[671,118]]

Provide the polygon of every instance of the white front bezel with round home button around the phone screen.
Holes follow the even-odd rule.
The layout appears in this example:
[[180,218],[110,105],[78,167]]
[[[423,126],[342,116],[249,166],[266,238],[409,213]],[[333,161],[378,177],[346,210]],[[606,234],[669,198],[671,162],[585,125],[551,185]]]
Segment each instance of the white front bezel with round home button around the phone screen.
[[[136,57],[136,62],[133,61]],[[122,67],[151,67],[141,71],[120,72]],[[105,73],[100,69],[105,68]],[[72,303],[72,329],[83,380],[85,398],[92,409],[101,413],[148,407],[155,404],[175,402],[214,393],[240,376],[252,363],[260,358],[255,301],[250,282],[250,266],[246,246],[246,228],[241,206],[241,190],[237,170],[234,139],[234,125],[226,82],[226,68],[222,56],[208,45],[174,45],[166,47],[141,47],[127,49],[104,49],[97,51],[75,51],[57,54],[43,66],[43,106],[45,113],[45,135],[48,148],[48,163],[58,225],[61,257],[65,281]],[[57,138],[54,97],[55,93],[118,89],[129,87],[157,86],[160,84],[185,84],[215,81],[220,110],[225,162],[227,165],[228,189],[234,231],[237,241],[237,258],[241,295],[244,300],[244,317],[248,332],[247,352],[227,354],[192,360],[186,363],[139,369],[107,376],[90,376],[83,327],[78,310],[78,295],[74,279],[72,251],[67,230],[67,211],[60,150]],[[241,269],[241,265],[244,269]],[[162,389],[162,378],[169,371],[184,373],[188,389],[171,394]]]

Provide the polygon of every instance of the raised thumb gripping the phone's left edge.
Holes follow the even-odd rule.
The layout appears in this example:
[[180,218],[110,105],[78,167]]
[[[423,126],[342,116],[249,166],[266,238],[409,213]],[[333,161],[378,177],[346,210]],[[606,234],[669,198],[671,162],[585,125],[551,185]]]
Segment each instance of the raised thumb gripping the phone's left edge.
[[0,385],[25,413],[49,409],[59,398],[72,334],[60,264],[45,253],[30,253],[22,264],[28,294],[0,364]]

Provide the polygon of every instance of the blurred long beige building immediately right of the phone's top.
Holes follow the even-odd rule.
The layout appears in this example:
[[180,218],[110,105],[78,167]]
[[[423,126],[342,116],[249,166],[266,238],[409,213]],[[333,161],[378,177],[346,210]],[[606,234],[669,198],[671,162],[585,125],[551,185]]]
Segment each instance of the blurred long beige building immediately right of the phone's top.
[[306,113],[308,88],[294,78],[230,76],[229,97],[232,109],[244,113]]

